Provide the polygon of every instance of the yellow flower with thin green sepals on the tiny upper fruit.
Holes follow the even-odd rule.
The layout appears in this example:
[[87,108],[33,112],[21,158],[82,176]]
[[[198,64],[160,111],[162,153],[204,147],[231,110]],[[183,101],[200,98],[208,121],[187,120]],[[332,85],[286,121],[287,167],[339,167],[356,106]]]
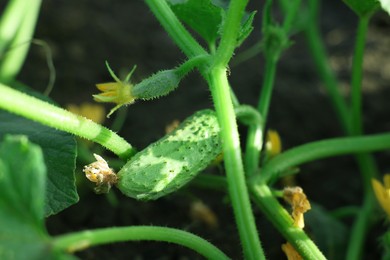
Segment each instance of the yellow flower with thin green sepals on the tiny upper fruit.
[[98,102],[110,102],[115,103],[113,109],[111,109],[110,113],[107,115],[109,117],[114,111],[120,108],[123,105],[129,105],[134,103],[135,97],[132,95],[133,84],[130,83],[130,77],[133,74],[136,66],[130,71],[130,73],[126,76],[124,81],[121,81],[115,73],[111,70],[108,62],[106,62],[107,69],[110,75],[114,78],[115,82],[107,82],[96,84],[96,87],[102,91],[100,94],[93,95],[95,101]]

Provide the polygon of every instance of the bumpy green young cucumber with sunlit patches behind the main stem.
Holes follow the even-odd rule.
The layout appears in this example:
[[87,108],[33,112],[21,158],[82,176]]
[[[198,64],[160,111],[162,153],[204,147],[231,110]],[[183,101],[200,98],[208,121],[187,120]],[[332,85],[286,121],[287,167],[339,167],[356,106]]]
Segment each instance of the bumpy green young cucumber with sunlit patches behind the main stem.
[[219,132],[215,112],[198,111],[132,157],[118,172],[117,187],[139,200],[178,190],[221,154]]

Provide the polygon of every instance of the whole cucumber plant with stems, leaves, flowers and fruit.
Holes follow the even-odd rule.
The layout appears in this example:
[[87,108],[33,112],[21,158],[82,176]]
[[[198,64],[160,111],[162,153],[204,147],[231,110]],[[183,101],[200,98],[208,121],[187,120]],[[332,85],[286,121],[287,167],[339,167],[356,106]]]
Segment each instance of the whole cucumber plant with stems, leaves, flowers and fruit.
[[[120,169],[115,173],[111,168],[115,160],[107,162],[103,153],[96,154],[96,147],[77,142],[79,157],[91,158],[95,153],[97,161],[85,166],[84,172],[97,184],[98,193],[110,192],[110,188],[115,187],[130,197],[129,200],[156,200],[192,182],[226,192],[245,259],[265,259],[267,253],[267,248],[263,249],[261,244],[261,240],[267,238],[259,235],[255,217],[265,217],[287,240],[282,248],[289,259],[325,259],[328,252],[322,252],[317,241],[303,230],[304,213],[310,208],[315,210],[303,192],[305,187],[287,187],[281,191],[275,183],[299,173],[297,169],[301,164],[326,157],[355,155],[362,175],[364,200],[354,211],[356,219],[345,246],[345,259],[360,258],[376,205],[371,183],[381,205],[389,203],[387,178],[384,185],[373,180],[379,172],[370,152],[389,149],[390,134],[364,134],[361,100],[369,21],[381,7],[387,12],[390,8],[385,0],[344,2],[358,17],[350,102],[341,95],[323,48],[317,20],[319,0],[279,0],[277,3],[266,0],[261,10],[261,27],[255,24],[256,12],[246,11],[248,0],[145,0],[187,60],[138,83],[130,80],[135,66],[121,80],[106,63],[114,82],[97,84],[101,93],[93,98],[116,104],[109,116],[122,106],[136,106],[136,100],[147,102],[174,93],[187,74],[197,71],[209,87],[213,108],[194,111],[173,132],[137,151],[116,130],[73,114],[16,80],[26,58],[41,1],[10,0],[0,20],[0,258],[73,259],[70,254],[90,246],[153,240],[183,245],[207,259],[229,259],[207,240],[177,228],[107,227],[51,236],[44,218],[78,201],[74,176],[77,147],[72,135],[100,144],[119,157],[116,162]],[[272,12],[276,6],[282,14],[280,22]],[[231,86],[228,79],[234,73],[234,68],[229,68],[233,54],[254,28],[261,28],[261,40],[237,60],[259,52],[264,56],[264,78],[257,106],[241,104],[235,96],[235,86]],[[277,65],[283,52],[293,44],[291,37],[297,33],[306,36],[309,54],[346,136],[282,151],[277,133],[269,131],[268,137],[263,133],[269,128]],[[22,51],[15,52],[20,44],[25,44]],[[120,121],[120,116],[117,119]],[[239,134],[237,122],[246,126],[246,135]],[[241,150],[242,143],[245,143],[245,151]],[[224,176],[202,173],[221,156]],[[282,197],[291,204],[291,214],[278,200]],[[251,201],[262,215],[255,216]],[[342,210],[348,209],[346,205]],[[326,219],[327,223],[336,225],[325,211],[320,215],[322,221]],[[388,256],[387,237],[383,239],[384,257]]]

